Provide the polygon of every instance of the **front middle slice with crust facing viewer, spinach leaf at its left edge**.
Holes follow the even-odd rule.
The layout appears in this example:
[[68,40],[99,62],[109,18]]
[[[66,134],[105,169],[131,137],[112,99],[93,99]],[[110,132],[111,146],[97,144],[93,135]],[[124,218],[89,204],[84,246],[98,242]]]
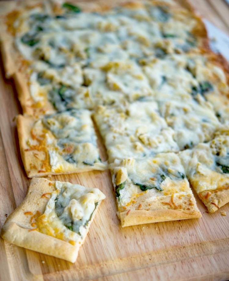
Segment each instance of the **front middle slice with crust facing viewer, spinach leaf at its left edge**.
[[115,160],[110,169],[122,227],[201,217],[175,153]]

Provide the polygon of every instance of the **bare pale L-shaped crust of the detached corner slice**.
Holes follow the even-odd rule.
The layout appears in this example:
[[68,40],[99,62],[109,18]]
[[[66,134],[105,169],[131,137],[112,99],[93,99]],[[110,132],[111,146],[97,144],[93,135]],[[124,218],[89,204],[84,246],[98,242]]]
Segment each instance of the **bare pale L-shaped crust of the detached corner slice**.
[[26,212],[33,214],[37,212],[44,213],[49,198],[42,195],[54,191],[53,183],[45,178],[33,178],[31,180],[24,201],[7,218],[2,228],[1,236],[7,242],[17,246],[74,263],[101,201],[99,201],[96,210],[93,212],[93,216],[88,223],[87,232],[82,240],[75,245],[71,245],[66,241],[33,230],[31,216],[25,214]]

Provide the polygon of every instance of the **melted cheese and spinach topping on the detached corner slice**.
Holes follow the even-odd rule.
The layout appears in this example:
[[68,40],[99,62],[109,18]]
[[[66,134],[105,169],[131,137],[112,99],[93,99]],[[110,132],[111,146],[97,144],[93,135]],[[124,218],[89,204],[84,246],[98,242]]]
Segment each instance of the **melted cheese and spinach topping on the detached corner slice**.
[[[96,203],[105,195],[97,188],[60,181],[55,182],[55,188],[45,212],[37,218],[38,231],[69,243],[82,243]],[[70,230],[72,225],[77,225],[78,233]]]

